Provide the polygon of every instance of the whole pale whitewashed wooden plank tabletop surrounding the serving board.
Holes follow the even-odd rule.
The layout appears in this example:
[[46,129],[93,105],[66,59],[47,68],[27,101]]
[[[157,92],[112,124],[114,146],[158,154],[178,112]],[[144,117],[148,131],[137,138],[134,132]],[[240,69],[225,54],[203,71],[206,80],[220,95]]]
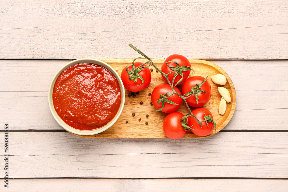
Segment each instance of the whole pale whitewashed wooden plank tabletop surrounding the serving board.
[[[0,191],[288,191],[288,1],[0,1]],[[236,111],[203,139],[85,139],[47,91],[77,58],[182,54],[232,79]]]

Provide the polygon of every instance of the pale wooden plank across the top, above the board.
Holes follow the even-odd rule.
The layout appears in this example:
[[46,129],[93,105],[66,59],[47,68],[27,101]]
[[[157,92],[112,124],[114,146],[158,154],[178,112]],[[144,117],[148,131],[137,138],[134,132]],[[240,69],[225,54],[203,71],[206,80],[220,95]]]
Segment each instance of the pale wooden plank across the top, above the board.
[[132,43],[151,58],[287,59],[287,9],[282,0],[7,1],[0,58],[136,58]]

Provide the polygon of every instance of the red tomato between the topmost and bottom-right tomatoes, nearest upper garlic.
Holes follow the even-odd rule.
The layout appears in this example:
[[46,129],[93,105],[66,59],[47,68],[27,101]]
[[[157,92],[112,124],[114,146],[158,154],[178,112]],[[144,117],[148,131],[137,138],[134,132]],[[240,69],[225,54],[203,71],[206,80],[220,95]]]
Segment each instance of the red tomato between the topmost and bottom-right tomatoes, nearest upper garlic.
[[[183,83],[183,87],[182,87],[183,95],[188,93],[188,92],[190,92],[191,88],[195,87],[196,84],[202,83],[204,81],[204,79],[205,78],[201,77],[201,76],[189,77]],[[205,81],[205,83],[203,85],[201,85],[200,90],[206,91],[206,93],[197,93],[198,104],[197,104],[195,95],[192,95],[191,97],[186,99],[188,105],[190,105],[192,107],[202,107],[204,104],[206,104],[210,100],[210,97],[211,97],[211,86],[210,86],[210,83],[207,80]]]

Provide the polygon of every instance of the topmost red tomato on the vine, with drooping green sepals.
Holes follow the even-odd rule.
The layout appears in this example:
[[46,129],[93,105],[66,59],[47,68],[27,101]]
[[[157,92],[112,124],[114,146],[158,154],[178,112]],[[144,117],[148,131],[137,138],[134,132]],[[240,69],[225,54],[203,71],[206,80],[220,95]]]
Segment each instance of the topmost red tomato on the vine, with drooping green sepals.
[[[179,64],[180,67],[184,66],[184,65],[191,67],[191,64],[190,64],[189,60],[186,57],[184,57],[183,55],[177,55],[177,54],[170,55],[169,57],[166,58],[166,62],[168,62],[168,61],[176,61]],[[161,71],[167,74],[167,73],[170,73],[170,72],[172,72],[174,70],[170,69],[167,66],[166,62],[164,61],[164,63],[162,64]],[[174,63],[174,62],[168,62],[168,65],[170,67],[176,67],[176,63]],[[189,76],[190,72],[191,72],[191,70],[183,71],[183,80],[180,83],[178,83],[177,85],[181,85],[187,79],[187,77]],[[174,75],[175,75],[175,72],[171,73],[170,75],[168,75],[168,80],[170,81],[171,84],[172,84]],[[164,81],[166,81],[166,83],[168,83],[166,78],[163,75],[162,75],[162,78],[164,79]],[[176,85],[176,83],[180,79],[181,79],[181,75],[178,74],[175,77],[173,85]]]

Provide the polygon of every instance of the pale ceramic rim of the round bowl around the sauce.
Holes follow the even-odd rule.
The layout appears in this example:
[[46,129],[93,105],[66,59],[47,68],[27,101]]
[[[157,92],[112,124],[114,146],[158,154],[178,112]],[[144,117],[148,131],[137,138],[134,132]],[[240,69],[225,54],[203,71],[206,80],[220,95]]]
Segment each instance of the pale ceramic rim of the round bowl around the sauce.
[[[106,124],[105,126],[101,127],[101,128],[98,128],[98,129],[95,129],[95,130],[88,130],[88,131],[85,131],[85,130],[78,130],[78,129],[75,129],[69,125],[67,125],[60,117],[59,115],[57,114],[57,112],[55,111],[54,109],[54,105],[53,105],[53,88],[54,88],[54,84],[55,84],[55,81],[56,79],[58,78],[58,76],[60,75],[60,73],[62,73],[62,71],[64,71],[65,69],[67,69],[68,67],[74,65],[74,64],[78,64],[78,63],[92,63],[92,64],[97,64],[97,65],[101,65],[103,67],[105,67],[106,69],[108,69],[115,77],[116,79],[118,80],[118,83],[120,85],[120,89],[121,89],[121,104],[120,104],[120,107],[119,107],[119,110],[117,112],[117,114],[115,115],[115,117],[108,123]],[[108,65],[107,63],[103,62],[103,61],[100,61],[100,60],[97,60],[97,59],[92,59],[92,58],[82,58],[82,59],[76,59],[76,60],[73,60],[67,64],[65,64],[53,77],[51,83],[50,83],[50,86],[49,86],[49,89],[48,89],[48,104],[49,104],[49,108],[50,108],[50,111],[52,113],[52,116],[54,117],[54,119],[57,121],[57,123],[62,127],[64,128],[65,130],[71,132],[71,133],[74,133],[74,134],[77,134],[77,135],[94,135],[94,134],[98,134],[98,133],[101,133],[105,130],[107,130],[109,127],[111,127],[116,121],[117,119],[120,117],[121,113],[122,113],[122,110],[124,108],[124,103],[125,103],[125,89],[124,89],[124,85],[123,85],[123,82],[120,78],[120,76],[118,75],[118,73],[110,66]]]

